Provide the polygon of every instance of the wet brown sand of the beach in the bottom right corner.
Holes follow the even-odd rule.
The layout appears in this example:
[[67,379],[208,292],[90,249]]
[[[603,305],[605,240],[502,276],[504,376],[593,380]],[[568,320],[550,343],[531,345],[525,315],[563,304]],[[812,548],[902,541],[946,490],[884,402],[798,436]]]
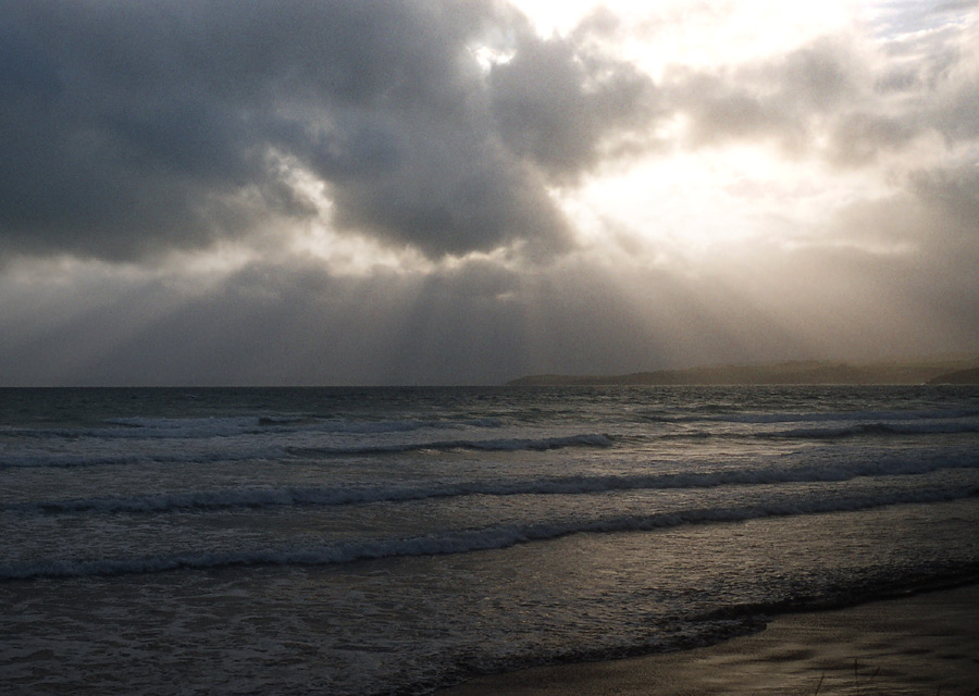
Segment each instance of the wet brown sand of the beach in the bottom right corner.
[[979,694],[979,585],[774,617],[707,647],[478,676],[434,696]]

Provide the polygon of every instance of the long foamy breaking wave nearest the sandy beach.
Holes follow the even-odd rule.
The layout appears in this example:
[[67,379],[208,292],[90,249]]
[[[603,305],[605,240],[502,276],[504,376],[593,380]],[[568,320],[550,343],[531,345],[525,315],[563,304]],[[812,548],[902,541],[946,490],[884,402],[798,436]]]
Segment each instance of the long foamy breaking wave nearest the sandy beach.
[[731,523],[770,517],[848,512],[890,505],[952,501],[977,495],[979,495],[979,486],[904,490],[879,496],[827,498],[822,495],[810,495],[744,507],[692,508],[652,514],[584,518],[526,525],[505,524],[404,538],[351,539],[306,548],[240,549],[94,560],[38,559],[23,563],[0,563],[0,579],[117,575],[230,566],[330,566],[380,558],[441,556],[503,549],[518,544],[555,539],[571,534],[643,532],[687,524]]

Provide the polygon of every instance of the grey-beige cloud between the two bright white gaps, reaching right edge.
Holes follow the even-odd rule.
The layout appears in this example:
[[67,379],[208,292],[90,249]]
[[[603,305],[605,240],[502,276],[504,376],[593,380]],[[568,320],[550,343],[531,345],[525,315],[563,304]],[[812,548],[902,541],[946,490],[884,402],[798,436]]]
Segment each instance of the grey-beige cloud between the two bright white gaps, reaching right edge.
[[[674,65],[661,100],[689,121],[686,145],[769,142],[790,157],[866,166],[937,136],[979,138],[979,21],[961,10],[918,34],[818,38],[785,54],[711,69]],[[896,20],[895,20],[896,21]]]

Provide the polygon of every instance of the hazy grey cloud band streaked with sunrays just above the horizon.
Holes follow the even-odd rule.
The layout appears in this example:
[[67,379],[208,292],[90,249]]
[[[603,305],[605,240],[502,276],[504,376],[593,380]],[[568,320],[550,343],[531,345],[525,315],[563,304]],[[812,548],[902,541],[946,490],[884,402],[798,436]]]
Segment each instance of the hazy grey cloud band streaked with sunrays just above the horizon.
[[54,285],[52,262],[34,261],[0,276],[0,325],[16,327],[0,332],[0,383],[498,384],[979,341],[979,288],[963,273],[975,254],[949,265],[842,247],[751,251],[697,276],[574,253],[531,270],[473,260],[364,276],[283,258],[207,284],[73,262]]

